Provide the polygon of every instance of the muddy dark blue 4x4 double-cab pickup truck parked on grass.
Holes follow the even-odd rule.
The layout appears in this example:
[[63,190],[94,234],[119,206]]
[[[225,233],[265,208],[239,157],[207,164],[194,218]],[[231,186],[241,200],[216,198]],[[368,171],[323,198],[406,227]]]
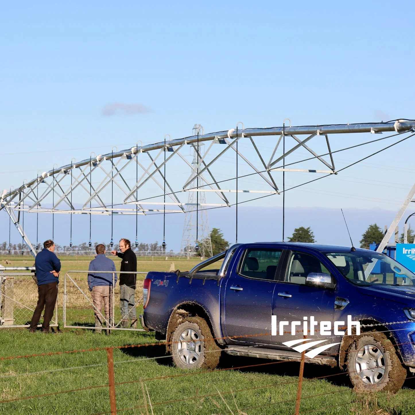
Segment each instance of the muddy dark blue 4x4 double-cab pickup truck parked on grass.
[[140,321],[182,369],[303,354],[390,392],[415,372],[415,274],[366,249],[235,244],[189,272],[149,272]]

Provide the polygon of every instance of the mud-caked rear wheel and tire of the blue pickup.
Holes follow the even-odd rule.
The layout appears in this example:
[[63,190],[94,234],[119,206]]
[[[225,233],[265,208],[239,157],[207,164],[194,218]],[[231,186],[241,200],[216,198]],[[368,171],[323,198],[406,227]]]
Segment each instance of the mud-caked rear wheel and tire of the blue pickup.
[[212,332],[203,318],[187,317],[171,336],[174,365],[184,370],[215,369],[221,349],[215,340],[209,340],[212,337]]

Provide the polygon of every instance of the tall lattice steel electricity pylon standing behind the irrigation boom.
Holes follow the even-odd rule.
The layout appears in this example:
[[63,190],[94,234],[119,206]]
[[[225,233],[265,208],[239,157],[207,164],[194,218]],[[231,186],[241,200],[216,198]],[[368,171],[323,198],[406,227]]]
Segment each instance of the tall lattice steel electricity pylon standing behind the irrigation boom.
[[[193,126],[193,135],[200,133],[203,127],[200,124],[195,124]],[[192,166],[195,169],[198,165],[198,159],[203,156],[204,153],[204,144],[200,143],[199,148],[198,144],[195,144],[193,148],[193,161]],[[195,150],[198,148],[199,156]],[[194,171],[194,176],[197,175],[197,171]],[[203,182],[203,179],[199,177],[199,186]],[[197,187],[197,179],[194,178],[190,183],[189,188]],[[207,218],[206,210],[206,195],[205,192],[188,192],[188,202],[186,205],[186,215],[184,219],[183,227],[183,237],[181,243],[181,249],[183,255],[187,256],[187,259],[190,256],[197,255],[195,251],[196,243],[199,246],[199,253],[201,256],[212,256],[212,241],[210,240],[210,229],[209,229],[209,219]],[[197,206],[198,205],[198,206]],[[198,207],[198,208],[197,208]],[[197,225],[196,225],[197,223]],[[197,227],[197,236],[196,236],[196,227]]]

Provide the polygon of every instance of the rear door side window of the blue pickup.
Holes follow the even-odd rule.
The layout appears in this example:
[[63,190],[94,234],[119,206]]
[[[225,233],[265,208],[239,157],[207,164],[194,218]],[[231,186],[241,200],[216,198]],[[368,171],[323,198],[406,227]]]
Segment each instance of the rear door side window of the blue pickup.
[[282,249],[247,249],[239,274],[261,280],[274,280]]

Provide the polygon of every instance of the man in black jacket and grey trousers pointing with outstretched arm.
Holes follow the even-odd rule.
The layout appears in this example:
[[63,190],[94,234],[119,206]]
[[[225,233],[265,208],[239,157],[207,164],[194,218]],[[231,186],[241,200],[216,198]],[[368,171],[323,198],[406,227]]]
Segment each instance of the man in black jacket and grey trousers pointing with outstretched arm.
[[[111,251],[112,255],[121,258],[120,271],[137,272],[137,257],[131,249],[131,242],[128,239],[120,240],[120,251]],[[122,315],[122,327],[128,327],[128,319],[131,320],[131,327],[137,328],[137,311],[135,309],[135,284],[137,274],[120,273],[120,309]]]

